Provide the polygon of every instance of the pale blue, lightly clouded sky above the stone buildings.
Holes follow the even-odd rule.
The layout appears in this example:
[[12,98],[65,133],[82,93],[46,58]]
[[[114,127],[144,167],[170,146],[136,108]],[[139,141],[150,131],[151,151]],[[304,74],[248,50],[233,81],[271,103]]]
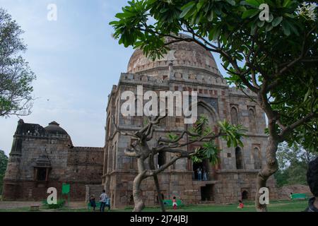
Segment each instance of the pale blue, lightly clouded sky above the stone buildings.
[[[109,25],[127,0],[0,0],[25,31],[23,40],[37,79],[25,123],[57,121],[76,146],[103,147],[107,96],[126,72],[132,48],[112,38]],[[57,20],[47,8],[57,6]],[[221,73],[225,72],[214,54]],[[18,117],[0,118],[0,150],[8,155]]]

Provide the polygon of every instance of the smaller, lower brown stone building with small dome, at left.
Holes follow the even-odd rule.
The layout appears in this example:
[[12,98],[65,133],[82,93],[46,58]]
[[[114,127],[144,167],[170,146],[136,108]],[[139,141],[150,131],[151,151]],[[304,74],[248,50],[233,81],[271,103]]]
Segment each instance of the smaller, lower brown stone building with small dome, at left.
[[86,184],[101,184],[103,148],[73,147],[59,124],[43,128],[18,122],[4,177],[4,200],[41,201],[47,188],[61,195],[63,183],[71,185],[71,200],[83,201]]

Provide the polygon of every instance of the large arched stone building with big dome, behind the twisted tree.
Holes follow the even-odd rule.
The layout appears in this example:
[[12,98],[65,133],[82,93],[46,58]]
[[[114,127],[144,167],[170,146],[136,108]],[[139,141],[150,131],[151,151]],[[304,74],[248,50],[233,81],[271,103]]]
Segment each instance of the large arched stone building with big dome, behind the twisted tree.
[[[264,134],[266,121],[264,112],[245,93],[230,88],[218,71],[216,61],[210,52],[198,44],[179,42],[170,45],[170,51],[163,59],[151,61],[137,49],[132,55],[128,72],[122,73],[119,84],[114,85],[107,105],[107,125],[104,155],[104,176],[102,183],[110,194],[112,206],[123,207],[133,204],[132,183],[136,176],[136,159],[124,155],[124,149],[134,142],[128,136],[114,133],[112,118],[124,131],[136,131],[143,124],[143,117],[123,117],[120,106],[124,91],[137,95],[137,85],[143,85],[143,92],[197,91],[198,114],[205,114],[209,124],[228,120],[232,124],[243,124],[247,129],[244,148],[228,148],[218,140],[220,164],[211,166],[208,162],[194,165],[190,160],[178,160],[175,165],[159,176],[164,198],[177,196],[184,203],[215,201],[236,203],[240,198],[253,199],[256,192],[256,177],[266,163],[267,136]],[[253,96],[249,90],[246,93]],[[165,136],[167,131],[175,133],[187,129],[182,117],[167,117],[155,130],[153,141]],[[151,142],[149,145],[151,145]],[[200,143],[196,143],[200,145]],[[196,145],[187,147],[192,150]],[[164,159],[171,156],[164,156]],[[157,157],[158,158],[158,157]],[[162,157],[160,157],[162,159]],[[205,167],[208,181],[197,181],[195,170]],[[276,185],[269,180],[271,198],[276,198]],[[143,182],[141,190],[146,205],[158,203],[153,179]]]

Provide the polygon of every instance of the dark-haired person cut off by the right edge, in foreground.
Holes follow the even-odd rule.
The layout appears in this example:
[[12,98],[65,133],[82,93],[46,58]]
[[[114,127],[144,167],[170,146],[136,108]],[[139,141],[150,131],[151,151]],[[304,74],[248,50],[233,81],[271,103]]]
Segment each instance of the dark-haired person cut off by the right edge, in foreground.
[[308,166],[307,183],[314,197],[310,198],[305,212],[318,212],[318,157]]

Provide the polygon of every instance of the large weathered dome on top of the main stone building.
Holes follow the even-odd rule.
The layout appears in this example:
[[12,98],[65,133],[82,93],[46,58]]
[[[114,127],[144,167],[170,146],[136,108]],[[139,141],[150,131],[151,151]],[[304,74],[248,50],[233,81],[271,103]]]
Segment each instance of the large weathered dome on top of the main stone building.
[[[167,39],[167,42],[171,40]],[[195,42],[175,42],[169,45],[170,51],[161,59],[152,61],[145,57],[141,49],[136,49],[129,60],[127,73],[138,73],[149,69],[169,66],[187,66],[196,69],[205,69],[219,74],[216,61],[211,52]]]

